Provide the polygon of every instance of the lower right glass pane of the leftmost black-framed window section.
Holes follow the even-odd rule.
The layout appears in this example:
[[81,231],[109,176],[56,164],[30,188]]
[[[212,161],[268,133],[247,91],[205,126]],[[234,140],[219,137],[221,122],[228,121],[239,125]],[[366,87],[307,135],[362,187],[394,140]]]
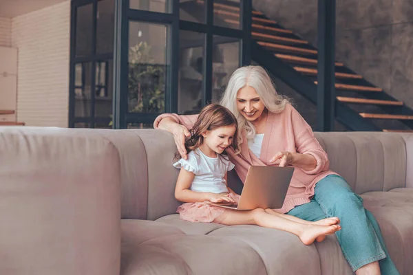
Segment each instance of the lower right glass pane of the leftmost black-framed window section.
[[109,118],[112,114],[113,61],[96,62],[95,116]]

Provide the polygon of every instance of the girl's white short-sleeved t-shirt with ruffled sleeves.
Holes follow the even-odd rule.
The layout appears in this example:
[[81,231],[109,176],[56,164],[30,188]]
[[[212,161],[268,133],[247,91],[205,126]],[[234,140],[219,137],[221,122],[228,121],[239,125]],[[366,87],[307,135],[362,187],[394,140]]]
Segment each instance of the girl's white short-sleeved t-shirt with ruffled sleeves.
[[191,190],[195,192],[228,192],[224,179],[226,171],[232,170],[234,164],[221,155],[218,157],[208,157],[204,155],[200,148],[191,151],[188,159],[180,159],[174,163],[176,168],[184,168],[195,174],[191,184]]

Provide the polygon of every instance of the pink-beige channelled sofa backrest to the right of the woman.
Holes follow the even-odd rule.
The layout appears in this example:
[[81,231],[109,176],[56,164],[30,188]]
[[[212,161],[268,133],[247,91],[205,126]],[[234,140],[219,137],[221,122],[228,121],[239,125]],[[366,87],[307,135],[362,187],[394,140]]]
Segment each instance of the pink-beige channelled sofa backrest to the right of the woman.
[[403,135],[337,132],[315,136],[328,154],[330,169],[343,176],[357,194],[405,187],[407,157]]

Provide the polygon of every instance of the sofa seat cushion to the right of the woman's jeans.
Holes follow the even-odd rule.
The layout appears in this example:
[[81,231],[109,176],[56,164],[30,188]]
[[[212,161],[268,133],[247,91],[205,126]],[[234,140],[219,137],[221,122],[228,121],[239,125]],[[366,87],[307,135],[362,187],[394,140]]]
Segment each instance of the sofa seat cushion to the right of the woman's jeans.
[[401,274],[413,274],[413,188],[366,192],[364,207],[380,225],[392,260]]

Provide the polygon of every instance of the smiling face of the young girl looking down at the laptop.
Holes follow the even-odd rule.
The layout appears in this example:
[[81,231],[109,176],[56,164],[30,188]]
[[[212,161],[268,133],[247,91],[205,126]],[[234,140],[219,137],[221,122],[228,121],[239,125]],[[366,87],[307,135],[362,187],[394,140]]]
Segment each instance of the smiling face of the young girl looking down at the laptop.
[[[211,150],[209,153],[213,154],[213,152],[215,152],[221,154],[224,152],[226,147],[232,144],[235,131],[235,125],[222,126],[211,131],[208,130],[202,133],[202,136],[204,137],[204,143],[202,146],[204,146],[204,149],[207,149],[208,151]],[[205,146],[207,146],[207,148],[205,148]]]

